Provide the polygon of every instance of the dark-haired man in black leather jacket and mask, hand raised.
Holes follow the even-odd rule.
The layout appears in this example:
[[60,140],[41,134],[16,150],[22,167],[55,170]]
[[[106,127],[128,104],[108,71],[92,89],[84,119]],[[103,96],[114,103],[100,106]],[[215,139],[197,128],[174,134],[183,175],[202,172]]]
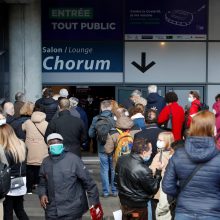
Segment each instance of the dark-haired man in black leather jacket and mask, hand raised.
[[163,164],[159,161],[153,175],[146,162],[152,153],[151,143],[135,138],[130,154],[119,157],[115,168],[115,184],[119,192],[122,219],[148,220],[147,203],[158,191]]

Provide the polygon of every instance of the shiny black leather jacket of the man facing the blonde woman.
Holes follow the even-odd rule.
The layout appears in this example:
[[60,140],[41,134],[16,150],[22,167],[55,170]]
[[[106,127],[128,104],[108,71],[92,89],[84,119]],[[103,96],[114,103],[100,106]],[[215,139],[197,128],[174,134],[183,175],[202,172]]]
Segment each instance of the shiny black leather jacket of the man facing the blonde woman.
[[122,205],[133,208],[146,207],[160,187],[161,171],[155,177],[138,154],[128,154],[118,159],[115,168],[115,184]]

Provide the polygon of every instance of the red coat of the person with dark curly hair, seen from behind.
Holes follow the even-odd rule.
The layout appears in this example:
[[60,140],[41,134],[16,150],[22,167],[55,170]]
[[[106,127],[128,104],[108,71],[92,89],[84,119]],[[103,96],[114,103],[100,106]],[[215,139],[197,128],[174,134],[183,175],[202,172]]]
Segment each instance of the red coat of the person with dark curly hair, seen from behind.
[[175,141],[182,139],[182,128],[184,123],[184,110],[177,102],[163,108],[158,116],[158,124],[164,124],[169,120],[170,109],[172,111],[172,132]]

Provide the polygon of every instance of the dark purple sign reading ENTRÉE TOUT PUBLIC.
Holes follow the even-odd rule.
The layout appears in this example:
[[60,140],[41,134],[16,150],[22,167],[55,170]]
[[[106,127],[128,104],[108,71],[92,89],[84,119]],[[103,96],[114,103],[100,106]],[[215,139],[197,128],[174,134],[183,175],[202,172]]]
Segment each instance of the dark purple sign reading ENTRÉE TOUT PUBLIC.
[[44,0],[42,40],[122,40],[123,1]]

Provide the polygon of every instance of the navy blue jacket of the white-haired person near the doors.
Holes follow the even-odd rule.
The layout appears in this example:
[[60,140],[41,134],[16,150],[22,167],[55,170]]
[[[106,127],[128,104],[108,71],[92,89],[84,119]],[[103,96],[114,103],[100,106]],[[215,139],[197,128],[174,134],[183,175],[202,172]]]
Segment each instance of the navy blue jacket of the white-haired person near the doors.
[[166,101],[164,97],[160,96],[158,93],[150,93],[147,96],[147,109],[156,108],[158,114],[166,106]]

